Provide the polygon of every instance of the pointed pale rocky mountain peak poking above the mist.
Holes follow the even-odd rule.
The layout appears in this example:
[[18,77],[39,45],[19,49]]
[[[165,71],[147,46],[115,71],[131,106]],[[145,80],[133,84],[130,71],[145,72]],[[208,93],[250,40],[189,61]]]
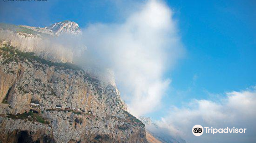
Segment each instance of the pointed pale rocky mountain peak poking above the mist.
[[81,29],[79,28],[79,25],[74,21],[61,21],[54,23],[50,27],[47,27],[47,29],[52,30],[52,32],[59,36],[61,34],[72,34],[72,35],[80,35],[82,34]]

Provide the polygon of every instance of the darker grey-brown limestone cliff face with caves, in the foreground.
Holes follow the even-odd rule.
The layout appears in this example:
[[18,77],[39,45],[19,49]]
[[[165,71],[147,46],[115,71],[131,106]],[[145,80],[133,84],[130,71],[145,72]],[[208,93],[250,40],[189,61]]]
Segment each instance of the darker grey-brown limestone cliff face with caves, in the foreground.
[[2,142],[147,142],[116,86],[69,63],[0,47]]

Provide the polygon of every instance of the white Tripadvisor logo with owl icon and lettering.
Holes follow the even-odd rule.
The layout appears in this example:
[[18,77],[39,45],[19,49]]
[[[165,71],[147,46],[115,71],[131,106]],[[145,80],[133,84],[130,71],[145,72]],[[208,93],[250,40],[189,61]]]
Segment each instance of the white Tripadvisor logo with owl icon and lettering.
[[201,125],[195,125],[193,128],[192,128],[192,133],[195,135],[195,136],[200,136],[204,133],[204,129],[205,129],[205,133],[212,133],[212,134],[215,134],[215,133],[246,133],[245,130],[246,129],[238,129],[238,128],[220,128],[220,129],[216,129],[216,128],[212,128],[212,127],[202,127]]

